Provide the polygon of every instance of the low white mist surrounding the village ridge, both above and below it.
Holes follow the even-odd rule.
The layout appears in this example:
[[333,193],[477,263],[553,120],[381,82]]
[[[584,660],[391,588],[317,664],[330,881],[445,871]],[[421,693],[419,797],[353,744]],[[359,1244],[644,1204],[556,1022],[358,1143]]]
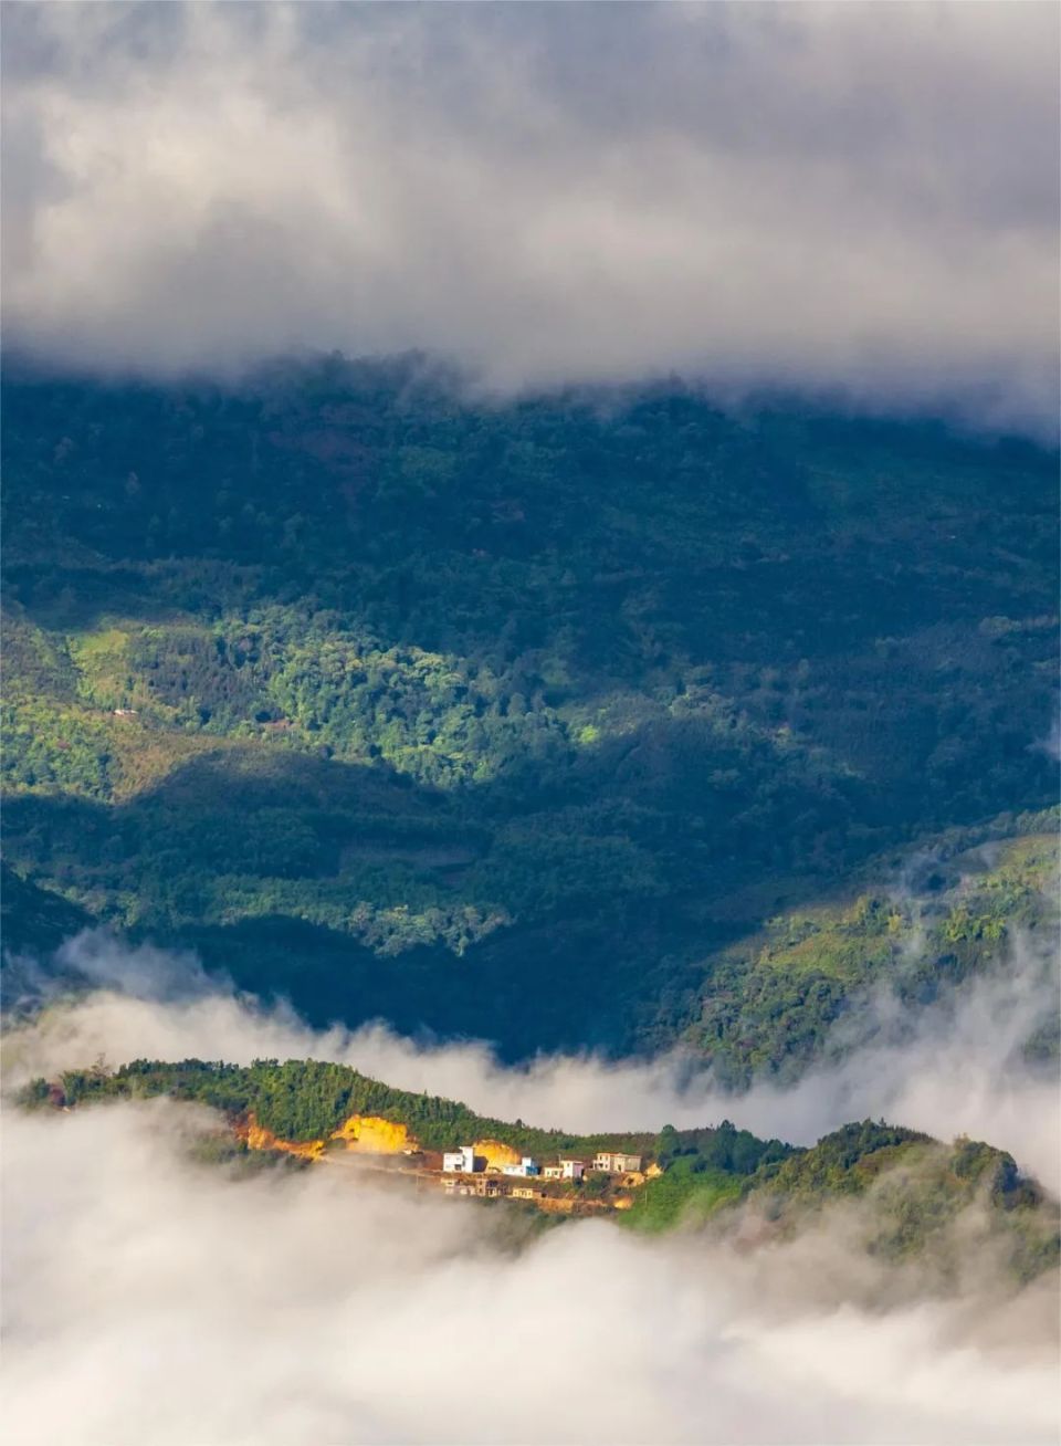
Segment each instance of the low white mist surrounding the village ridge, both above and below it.
[[[717,1092],[688,1060],[500,1066],[385,1027],[309,1030],[189,954],[104,933],[59,953],[95,986],[9,1030],[13,1087],[104,1056],[312,1057],[502,1118],[591,1131],[729,1116],[811,1142],[864,1115],[1013,1151],[1057,1187],[1058,1099],[1016,1045],[1052,998],[1031,949],[792,1089]],[[1049,976],[1049,977],[1048,977]],[[749,1249],[746,1232],[642,1239],[409,1194],[343,1163],[233,1178],[197,1164],[215,1116],[169,1100],[4,1121],[4,1368],[39,1446],[918,1443],[1057,1437],[1052,1277],[1015,1291],[976,1207],[963,1272],[864,1252],[872,1196]],[[749,1239],[755,1239],[755,1220]],[[953,1252],[951,1252],[953,1255]],[[950,1258],[947,1252],[942,1261]],[[945,1268],[945,1267],[944,1267]]]

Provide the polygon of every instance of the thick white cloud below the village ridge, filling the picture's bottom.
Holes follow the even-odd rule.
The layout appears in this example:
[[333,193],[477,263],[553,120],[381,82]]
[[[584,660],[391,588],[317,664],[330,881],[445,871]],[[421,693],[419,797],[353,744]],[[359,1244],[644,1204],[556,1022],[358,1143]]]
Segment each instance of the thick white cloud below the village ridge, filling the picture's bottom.
[[513,1248],[502,1212],[341,1165],[195,1165],[202,1118],[6,1119],[20,1446],[1055,1440],[1049,1291],[867,1309],[830,1284],[841,1235],[742,1255],[577,1222]]

